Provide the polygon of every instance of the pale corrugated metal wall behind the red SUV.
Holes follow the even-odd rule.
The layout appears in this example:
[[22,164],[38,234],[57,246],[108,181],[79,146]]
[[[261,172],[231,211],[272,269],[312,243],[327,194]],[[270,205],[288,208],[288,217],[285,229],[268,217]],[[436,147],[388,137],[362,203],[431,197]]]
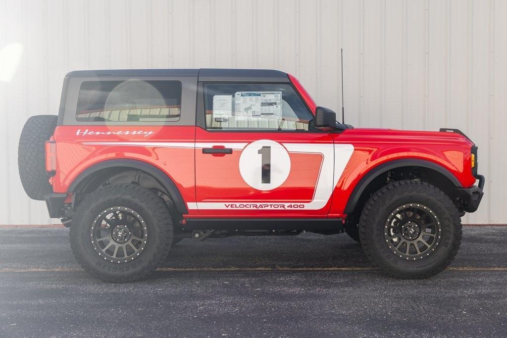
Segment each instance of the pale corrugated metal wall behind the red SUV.
[[341,47],[346,122],[461,129],[487,177],[464,222],[507,223],[506,18],[502,0],[0,0],[0,223],[51,221],[21,188],[17,143],[29,116],[56,114],[67,71],[276,68],[339,111]]

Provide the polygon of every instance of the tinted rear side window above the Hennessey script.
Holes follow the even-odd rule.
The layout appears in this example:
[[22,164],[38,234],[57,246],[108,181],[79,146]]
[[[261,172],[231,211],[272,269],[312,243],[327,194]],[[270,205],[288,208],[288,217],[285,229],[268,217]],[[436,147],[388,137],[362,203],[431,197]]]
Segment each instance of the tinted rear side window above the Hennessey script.
[[179,81],[84,81],[76,120],[82,122],[178,121],[182,106]]

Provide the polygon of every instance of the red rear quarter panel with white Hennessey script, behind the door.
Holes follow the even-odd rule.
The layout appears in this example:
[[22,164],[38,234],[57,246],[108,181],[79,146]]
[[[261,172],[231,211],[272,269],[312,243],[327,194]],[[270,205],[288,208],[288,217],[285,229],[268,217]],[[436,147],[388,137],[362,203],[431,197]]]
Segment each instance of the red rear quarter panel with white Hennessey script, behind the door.
[[[83,134],[84,131],[110,134]],[[114,134],[133,131],[151,133],[148,136],[146,133]],[[162,170],[176,184],[185,201],[195,199],[194,126],[58,126],[53,139],[57,154],[55,193],[67,192],[69,185],[95,164],[133,159]],[[158,145],[150,146],[150,142]],[[164,142],[179,146],[166,147]]]

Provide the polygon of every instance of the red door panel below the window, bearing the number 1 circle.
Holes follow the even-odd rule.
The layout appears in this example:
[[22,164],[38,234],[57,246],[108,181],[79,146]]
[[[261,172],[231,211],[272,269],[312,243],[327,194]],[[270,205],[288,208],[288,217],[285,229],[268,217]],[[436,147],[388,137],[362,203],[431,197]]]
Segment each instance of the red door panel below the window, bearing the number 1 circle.
[[[213,147],[232,152],[203,153]],[[203,217],[318,217],[329,211],[334,151],[328,133],[197,128],[195,152],[196,201],[188,207]]]

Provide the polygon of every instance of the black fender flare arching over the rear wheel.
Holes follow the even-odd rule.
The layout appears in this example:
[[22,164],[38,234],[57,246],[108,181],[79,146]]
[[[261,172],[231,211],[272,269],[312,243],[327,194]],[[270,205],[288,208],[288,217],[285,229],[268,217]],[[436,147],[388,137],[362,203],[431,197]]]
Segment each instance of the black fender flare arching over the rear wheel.
[[93,174],[94,172],[114,167],[126,167],[138,169],[152,175],[158,181],[160,181],[160,183],[162,183],[162,185],[165,187],[165,189],[169,193],[169,196],[174,201],[176,209],[183,214],[188,213],[187,206],[185,204],[185,201],[183,200],[182,194],[179,192],[176,184],[174,184],[172,179],[170,179],[169,176],[167,176],[162,170],[155,167],[154,165],[138,160],[118,159],[118,160],[105,160],[96,163],[85,169],[83,172],[81,172],[78,175],[78,177],[76,177],[74,181],[69,185],[67,191],[73,192],[79,185],[79,183],[83,181],[83,179]]

